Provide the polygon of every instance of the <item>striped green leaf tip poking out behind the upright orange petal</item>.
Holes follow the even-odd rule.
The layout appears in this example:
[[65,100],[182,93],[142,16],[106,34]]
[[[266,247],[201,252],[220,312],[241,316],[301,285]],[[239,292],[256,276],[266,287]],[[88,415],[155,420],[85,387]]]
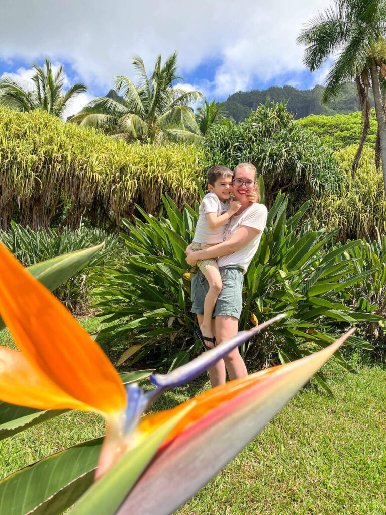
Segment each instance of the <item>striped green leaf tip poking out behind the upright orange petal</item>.
[[[88,249],[76,250],[57,256],[56,258],[42,261],[36,265],[27,267],[27,270],[32,276],[40,281],[44,286],[53,291],[60,286],[64,281],[74,276],[90,259],[100,250],[104,242],[90,247]],[[4,329],[5,325],[0,318],[0,330]]]

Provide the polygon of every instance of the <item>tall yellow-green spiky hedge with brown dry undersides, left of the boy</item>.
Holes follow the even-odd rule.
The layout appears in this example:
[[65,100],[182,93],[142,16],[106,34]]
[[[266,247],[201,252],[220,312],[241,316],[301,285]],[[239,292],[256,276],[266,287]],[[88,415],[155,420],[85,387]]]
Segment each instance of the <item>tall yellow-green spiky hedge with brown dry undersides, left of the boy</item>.
[[63,123],[42,111],[0,108],[0,228],[12,218],[49,227],[63,205],[62,225],[119,226],[134,203],[156,213],[161,194],[181,207],[197,195],[201,150],[182,144],[127,145],[96,129]]

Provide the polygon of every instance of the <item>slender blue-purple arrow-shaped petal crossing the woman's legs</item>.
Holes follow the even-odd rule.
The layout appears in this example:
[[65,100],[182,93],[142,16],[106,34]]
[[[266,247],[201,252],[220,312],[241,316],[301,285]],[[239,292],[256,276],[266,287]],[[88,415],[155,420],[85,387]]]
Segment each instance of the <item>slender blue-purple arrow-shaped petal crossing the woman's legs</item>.
[[233,349],[239,347],[245,341],[250,340],[253,338],[253,336],[259,334],[260,331],[266,329],[268,325],[277,322],[285,316],[287,315],[277,315],[271,320],[267,320],[266,322],[258,325],[258,327],[251,329],[250,331],[242,331],[230,340],[223,341],[213,349],[203,352],[200,354],[200,356],[192,359],[191,362],[176,368],[168,374],[151,374],[150,381],[154,385],[161,387],[163,390],[188,383],[192,379],[195,379],[197,376],[205,372],[208,368],[213,367],[213,365],[215,365],[219,359],[229,354]]

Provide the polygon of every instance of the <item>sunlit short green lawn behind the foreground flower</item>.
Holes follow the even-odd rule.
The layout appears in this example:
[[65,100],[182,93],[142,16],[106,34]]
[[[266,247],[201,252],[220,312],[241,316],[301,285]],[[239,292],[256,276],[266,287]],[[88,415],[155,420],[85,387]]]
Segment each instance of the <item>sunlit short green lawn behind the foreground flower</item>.
[[[82,324],[94,332],[99,322]],[[0,343],[9,344],[7,332]],[[334,399],[311,382],[179,515],[386,514],[386,368],[355,353],[350,361],[357,374],[324,367]],[[153,409],[208,387],[201,377],[167,392]],[[33,427],[0,441],[0,474],[103,431],[99,417],[74,411]]]

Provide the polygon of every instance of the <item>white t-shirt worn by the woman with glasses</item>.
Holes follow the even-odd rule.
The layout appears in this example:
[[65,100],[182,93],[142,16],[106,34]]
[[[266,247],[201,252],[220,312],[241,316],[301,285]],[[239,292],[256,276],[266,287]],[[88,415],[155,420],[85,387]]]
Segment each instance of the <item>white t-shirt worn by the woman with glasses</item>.
[[264,228],[267,225],[267,215],[268,210],[264,204],[252,204],[240,215],[233,215],[232,218],[230,218],[225,230],[224,242],[231,239],[237,229],[241,226],[253,227],[254,229],[259,229],[261,232],[257,234],[251,242],[242,247],[242,249],[218,258],[218,266],[234,265],[242,268],[243,273],[247,271],[249,264],[259,247],[262,231],[264,231]]

